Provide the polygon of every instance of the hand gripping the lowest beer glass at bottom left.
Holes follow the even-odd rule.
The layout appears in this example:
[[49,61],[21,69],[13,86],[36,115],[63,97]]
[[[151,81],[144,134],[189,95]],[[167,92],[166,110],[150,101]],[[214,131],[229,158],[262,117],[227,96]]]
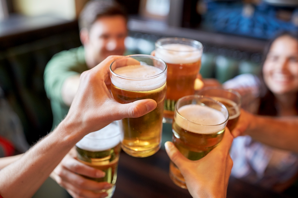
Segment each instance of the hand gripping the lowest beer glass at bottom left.
[[63,160],[53,170],[50,177],[61,187],[66,189],[73,198],[93,198],[106,197],[107,193],[97,193],[97,191],[111,188],[107,182],[96,182],[86,179],[81,175],[91,178],[102,178],[105,172],[83,164],[76,159],[75,147],[67,153]]

